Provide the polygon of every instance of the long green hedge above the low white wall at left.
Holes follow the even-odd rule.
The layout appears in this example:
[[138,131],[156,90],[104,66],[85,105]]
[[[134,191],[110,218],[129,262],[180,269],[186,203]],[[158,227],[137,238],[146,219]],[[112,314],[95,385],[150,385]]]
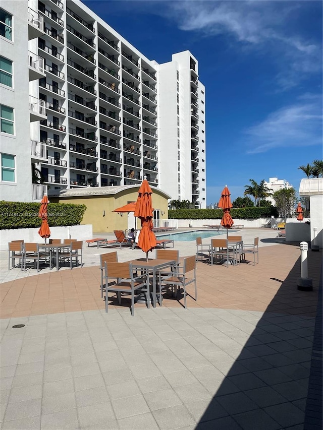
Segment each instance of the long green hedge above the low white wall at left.
[[[0,230],[40,227],[39,203],[0,201]],[[85,205],[49,203],[47,207],[49,227],[79,225]]]

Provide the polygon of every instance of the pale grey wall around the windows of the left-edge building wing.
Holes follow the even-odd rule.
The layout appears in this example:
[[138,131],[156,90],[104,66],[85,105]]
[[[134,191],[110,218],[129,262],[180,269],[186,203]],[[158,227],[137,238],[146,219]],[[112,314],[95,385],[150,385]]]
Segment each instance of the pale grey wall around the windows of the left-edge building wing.
[[[28,81],[28,3],[2,0],[0,7],[13,15],[12,40],[0,36],[1,55],[13,62],[13,88],[0,84],[1,103],[14,108],[14,135],[0,132],[3,154],[15,156],[15,182],[2,181],[1,199],[31,201],[31,156]],[[19,196],[19,197],[18,197]]]

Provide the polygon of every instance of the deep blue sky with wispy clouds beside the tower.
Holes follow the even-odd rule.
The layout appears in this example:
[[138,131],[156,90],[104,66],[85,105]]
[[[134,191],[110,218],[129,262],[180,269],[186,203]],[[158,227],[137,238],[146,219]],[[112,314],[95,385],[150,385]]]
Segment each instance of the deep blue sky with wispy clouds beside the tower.
[[190,50],[205,85],[207,204],[322,159],[319,1],[83,2],[149,59]]

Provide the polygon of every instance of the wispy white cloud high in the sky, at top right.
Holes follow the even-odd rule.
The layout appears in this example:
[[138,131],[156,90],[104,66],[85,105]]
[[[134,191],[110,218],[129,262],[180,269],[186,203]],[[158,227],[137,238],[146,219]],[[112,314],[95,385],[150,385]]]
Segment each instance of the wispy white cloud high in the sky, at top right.
[[272,55],[281,70],[276,83],[283,90],[321,70],[320,43],[304,40],[295,30],[295,10],[301,13],[296,2],[193,0],[167,4],[172,18],[184,31],[224,35],[228,40],[237,40],[240,48]]

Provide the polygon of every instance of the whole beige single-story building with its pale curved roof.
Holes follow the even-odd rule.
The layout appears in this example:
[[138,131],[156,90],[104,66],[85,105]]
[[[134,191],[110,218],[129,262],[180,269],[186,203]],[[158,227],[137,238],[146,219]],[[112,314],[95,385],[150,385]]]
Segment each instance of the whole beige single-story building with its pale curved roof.
[[[86,211],[82,224],[92,224],[93,232],[110,233],[113,230],[140,228],[139,219],[133,212],[117,213],[114,209],[138,198],[140,185],[120,185],[113,187],[72,188],[69,190],[49,190],[48,199],[52,203],[84,204]],[[168,199],[164,191],[152,188],[154,219],[168,219]]]

